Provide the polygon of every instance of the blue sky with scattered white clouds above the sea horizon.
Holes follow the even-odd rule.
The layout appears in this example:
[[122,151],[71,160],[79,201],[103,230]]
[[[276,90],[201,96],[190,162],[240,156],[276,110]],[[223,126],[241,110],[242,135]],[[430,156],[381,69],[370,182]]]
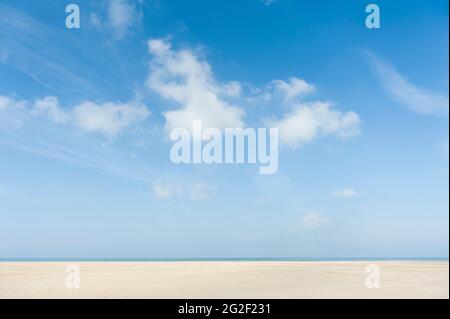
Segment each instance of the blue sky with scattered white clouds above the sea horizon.
[[[447,257],[448,1],[373,2],[2,1],[0,258]],[[278,172],[172,164],[186,112]]]

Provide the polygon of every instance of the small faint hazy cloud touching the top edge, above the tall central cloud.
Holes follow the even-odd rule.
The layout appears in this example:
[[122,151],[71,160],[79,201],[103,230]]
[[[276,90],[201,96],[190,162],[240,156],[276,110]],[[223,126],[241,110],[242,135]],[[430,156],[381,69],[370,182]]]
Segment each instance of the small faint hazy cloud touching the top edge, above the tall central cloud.
[[136,9],[127,0],[108,0],[107,11],[108,22],[115,30],[118,38],[122,38],[129,28],[138,21]]

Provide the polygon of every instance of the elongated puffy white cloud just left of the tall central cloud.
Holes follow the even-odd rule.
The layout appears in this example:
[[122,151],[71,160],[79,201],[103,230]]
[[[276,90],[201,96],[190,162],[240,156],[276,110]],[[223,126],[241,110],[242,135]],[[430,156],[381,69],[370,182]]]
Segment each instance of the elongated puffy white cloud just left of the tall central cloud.
[[142,121],[150,115],[148,109],[137,102],[97,104],[85,102],[73,109],[74,123],[84,131],[115,136],[125,127]]

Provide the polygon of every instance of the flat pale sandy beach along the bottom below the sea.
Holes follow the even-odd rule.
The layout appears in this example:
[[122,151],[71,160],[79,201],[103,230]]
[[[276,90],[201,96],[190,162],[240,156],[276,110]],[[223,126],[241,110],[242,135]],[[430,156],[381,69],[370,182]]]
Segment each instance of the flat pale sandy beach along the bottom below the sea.
[[449,298],[449,264],[0,262],[0,298]]

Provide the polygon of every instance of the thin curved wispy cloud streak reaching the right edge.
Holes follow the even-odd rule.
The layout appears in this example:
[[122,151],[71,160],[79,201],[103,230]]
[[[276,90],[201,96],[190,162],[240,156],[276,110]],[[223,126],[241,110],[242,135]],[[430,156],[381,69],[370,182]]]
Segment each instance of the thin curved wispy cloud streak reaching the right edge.
[[375,74],[390,97],[418,114],[448,116],[448,95],[429,92],[410,83],[394,66],[369,54]]

